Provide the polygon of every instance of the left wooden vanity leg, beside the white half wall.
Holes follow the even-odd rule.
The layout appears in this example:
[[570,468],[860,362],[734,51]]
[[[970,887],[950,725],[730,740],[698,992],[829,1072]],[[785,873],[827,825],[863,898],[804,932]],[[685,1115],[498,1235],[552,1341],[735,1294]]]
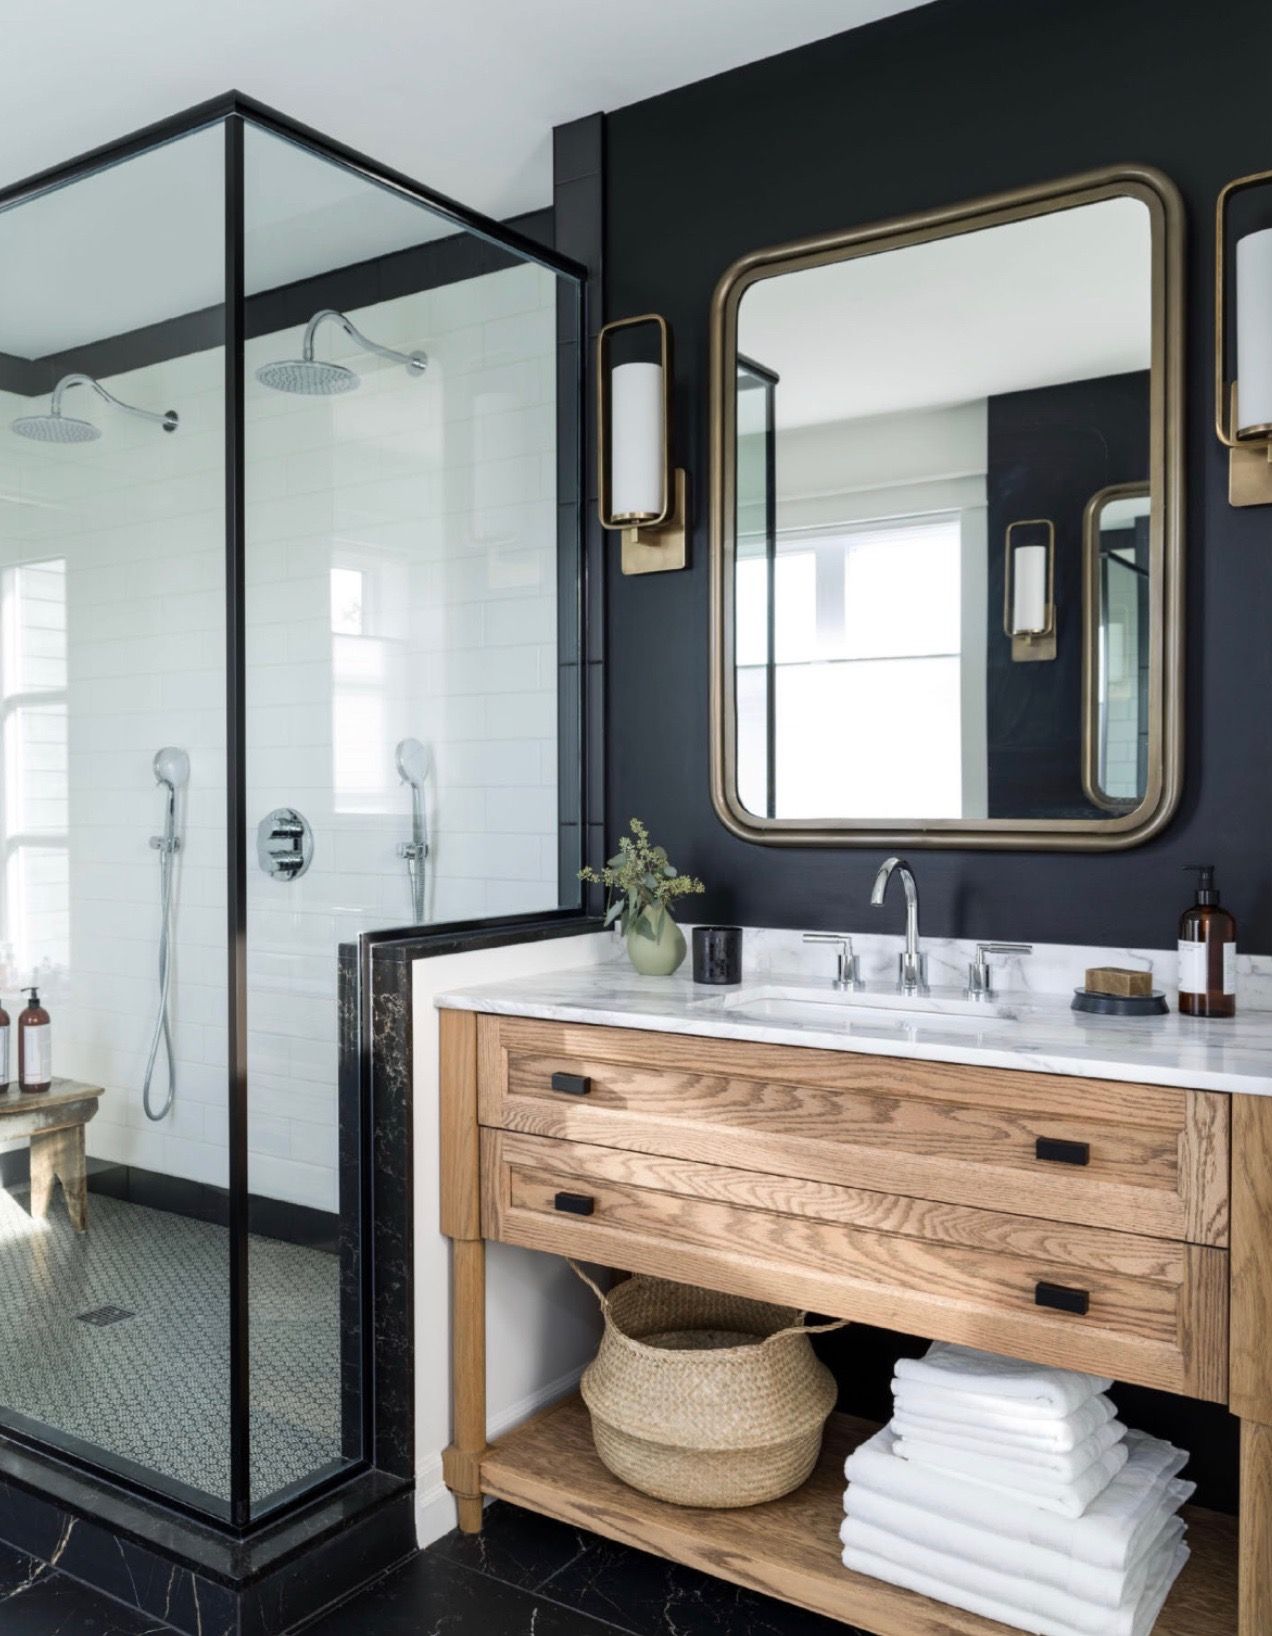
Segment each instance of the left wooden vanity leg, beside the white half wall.
[[451,1240],[451,1446],[441,1474],[459,1528],[481,1533],[486,1454],[486,1240],[481,1235],[477,1019],[443,1011],[441,1230]]

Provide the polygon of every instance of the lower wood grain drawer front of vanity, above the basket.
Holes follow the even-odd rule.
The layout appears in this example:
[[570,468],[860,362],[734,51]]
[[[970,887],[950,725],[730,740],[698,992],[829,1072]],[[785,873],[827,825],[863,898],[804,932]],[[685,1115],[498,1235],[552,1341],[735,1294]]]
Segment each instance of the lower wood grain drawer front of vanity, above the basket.
[[500,1130],[482,1132],[482,1234],[1226,1397],[1225,1250]]

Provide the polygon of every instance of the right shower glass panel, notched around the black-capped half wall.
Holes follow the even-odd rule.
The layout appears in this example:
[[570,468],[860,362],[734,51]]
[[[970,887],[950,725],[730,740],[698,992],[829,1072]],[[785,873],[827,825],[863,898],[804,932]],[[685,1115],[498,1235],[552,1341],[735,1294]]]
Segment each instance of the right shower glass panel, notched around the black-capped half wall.
[[577,465],[558,417],[577,291],[270,131],[247,128],[244,178],[260,1512],[363,1453],[342,947],[577,901],[558,772],[577,708],[558,641],[577,620],[576,494],[558,492],[559,455]]

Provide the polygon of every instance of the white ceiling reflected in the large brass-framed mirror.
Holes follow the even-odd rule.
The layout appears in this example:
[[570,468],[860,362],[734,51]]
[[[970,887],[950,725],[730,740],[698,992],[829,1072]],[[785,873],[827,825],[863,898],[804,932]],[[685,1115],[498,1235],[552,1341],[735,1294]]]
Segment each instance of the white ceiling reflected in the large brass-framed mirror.
[[1144,370],[1149,321],[1148,209],[1107,200],[764,280],[737,345],[821,425]]

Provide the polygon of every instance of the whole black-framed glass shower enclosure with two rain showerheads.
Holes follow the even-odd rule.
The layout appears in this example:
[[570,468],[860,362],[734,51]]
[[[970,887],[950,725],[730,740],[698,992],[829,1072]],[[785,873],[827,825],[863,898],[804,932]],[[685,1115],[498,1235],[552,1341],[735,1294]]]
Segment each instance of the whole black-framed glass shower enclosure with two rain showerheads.
[[234,1530],[371,1458],[342,947],[579,905],[580,322],[237,95],[0,195],[0,1432]]

